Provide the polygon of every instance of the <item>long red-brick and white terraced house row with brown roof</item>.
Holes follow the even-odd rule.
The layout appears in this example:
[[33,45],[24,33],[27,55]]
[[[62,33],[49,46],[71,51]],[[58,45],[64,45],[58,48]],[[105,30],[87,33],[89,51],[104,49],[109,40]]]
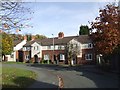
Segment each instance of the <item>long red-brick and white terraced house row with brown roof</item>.
[[64,37],[64,33],[60,32],[58,37],[27,42],[21,52],[24,53],[23,60],[29,59],[33,62],[50,60],[51,63],[68,64],[66,47],[68,44],[74,43],[79,45],[80,53],[73,58],[73,64],[94,64],[94,48],[88,35]]

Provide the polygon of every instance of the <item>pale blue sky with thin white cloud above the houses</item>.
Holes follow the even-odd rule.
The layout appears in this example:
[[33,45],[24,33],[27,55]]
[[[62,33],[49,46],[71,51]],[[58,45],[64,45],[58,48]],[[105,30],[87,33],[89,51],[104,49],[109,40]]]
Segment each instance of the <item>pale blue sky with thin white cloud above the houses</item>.
[[[70,0],[73,1],[73,0]],[[89,25],[99,15],[99,9],[107,2],[26,2],[34,14],[29,15],[28,24],[33,28],[22,29],[22,34],[42,34],[47,37],[79,34],[81,25]]]

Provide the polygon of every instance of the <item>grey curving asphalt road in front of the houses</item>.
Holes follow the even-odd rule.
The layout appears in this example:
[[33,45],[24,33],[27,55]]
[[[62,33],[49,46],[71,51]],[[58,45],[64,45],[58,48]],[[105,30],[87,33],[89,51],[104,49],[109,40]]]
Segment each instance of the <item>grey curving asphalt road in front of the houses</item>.
[[57,75],[62,76],[65,88],[118,88],[118,75],[92,72],[89,67],[62,67],[40,64],[3,64],[3,67],[24,68],[37,73],[36,82],[28,88],[57,88]]

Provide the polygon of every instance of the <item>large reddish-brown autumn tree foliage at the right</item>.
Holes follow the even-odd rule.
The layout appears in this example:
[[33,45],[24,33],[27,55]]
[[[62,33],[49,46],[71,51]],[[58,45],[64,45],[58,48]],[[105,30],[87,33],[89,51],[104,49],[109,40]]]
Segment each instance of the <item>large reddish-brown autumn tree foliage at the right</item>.
[[99,17],[92,22],[92,34],[95,50],[99,54],[111,54],[120,45],[120,10],[118,6],[108,4],[104,9],[99,10]]

